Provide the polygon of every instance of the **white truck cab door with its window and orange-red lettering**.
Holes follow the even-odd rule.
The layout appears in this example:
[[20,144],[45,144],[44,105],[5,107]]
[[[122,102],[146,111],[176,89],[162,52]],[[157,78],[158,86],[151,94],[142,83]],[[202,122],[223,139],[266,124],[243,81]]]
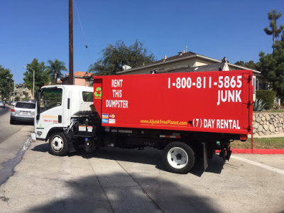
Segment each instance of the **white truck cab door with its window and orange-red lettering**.
[[62,126],[62,88],[46,88],[40,92],[37,100],[35,133],[37,138],[45,138],[53,127]]

